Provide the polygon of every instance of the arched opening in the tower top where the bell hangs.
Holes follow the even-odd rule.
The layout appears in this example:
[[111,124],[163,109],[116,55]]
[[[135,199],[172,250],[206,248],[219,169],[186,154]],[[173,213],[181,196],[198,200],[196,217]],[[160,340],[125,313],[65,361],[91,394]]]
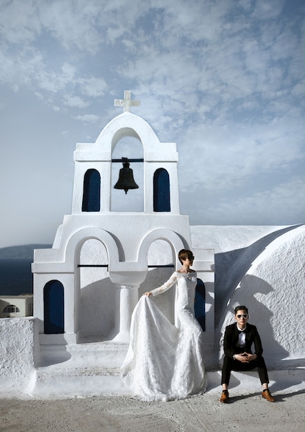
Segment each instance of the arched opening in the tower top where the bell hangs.
[[[144,211],[144,164],[143,161],[132,161],[132,159],[143,159],[143,146],[136,137],[122,137],[117,141],[112,151],[111,166],[111,201],[110,211],[112,212],[143,212]],[[122,158],[128,159],[128,167]],[[113,161],[115,159],[115,161]],[[138,188],[131,188],[127,191],[124,188],[115,188],[123,180],[124,170],[128,168],[128,181],[133,181]],[[125,175],[126,178],[126,175]]]

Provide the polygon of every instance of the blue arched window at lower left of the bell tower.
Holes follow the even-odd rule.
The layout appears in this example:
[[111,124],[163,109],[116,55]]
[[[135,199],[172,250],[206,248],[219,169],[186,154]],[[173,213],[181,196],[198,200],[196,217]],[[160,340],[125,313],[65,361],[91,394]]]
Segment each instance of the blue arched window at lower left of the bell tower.
[[43,289],[44,333],[64,333],[63,284],[51,280]]

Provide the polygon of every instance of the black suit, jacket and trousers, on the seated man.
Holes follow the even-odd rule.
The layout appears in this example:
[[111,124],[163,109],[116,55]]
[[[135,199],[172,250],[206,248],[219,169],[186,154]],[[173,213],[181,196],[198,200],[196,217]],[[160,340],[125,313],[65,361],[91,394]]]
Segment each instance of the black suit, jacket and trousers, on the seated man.
[[[226,326],[226,331],[224,333],[224,364],[222,366],[222,384],[228,385],[231,371],[251,371],[255,368],[257,368],[261,383],[264,384],[264,382],[269,382],[266,364],[264,357],[262,357],[262,341],[259,337],[257,328],[252,324],[247,323],[244,332],[246,333],[246,346],[240,347],[238,346],[239,330],[237,328],[236,322],[234,324],[230,324],[230,326]],[[251,351],[253,344],[254,354],[257,355],[255,360],[251,360],[249,363],[242,363],[233,359],[233,355],[235,354],[241,354],[244,352],[253,354]]]

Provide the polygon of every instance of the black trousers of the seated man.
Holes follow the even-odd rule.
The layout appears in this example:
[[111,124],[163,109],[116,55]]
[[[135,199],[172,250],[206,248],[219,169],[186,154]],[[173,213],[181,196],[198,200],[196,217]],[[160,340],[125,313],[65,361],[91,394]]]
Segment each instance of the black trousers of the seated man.
[[264,357],[259,357],[255,360],[252,360],[249,363],[242,363],[238,360],[232,360],[227,355],[224,356],[224,364],[222,366],[222,384],[229,384],[230,382],[230,375],[231,371],[252,371],[253,369],[257,368],[257,372],[259,374],[259,379],[261,380],[261,383],[264,384],[264,382],[268,383],[268,372],[265,364]]

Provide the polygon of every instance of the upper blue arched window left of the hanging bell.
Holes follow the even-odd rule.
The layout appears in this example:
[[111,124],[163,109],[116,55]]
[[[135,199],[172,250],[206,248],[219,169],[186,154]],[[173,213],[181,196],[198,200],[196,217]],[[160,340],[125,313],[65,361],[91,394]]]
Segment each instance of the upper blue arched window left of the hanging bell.
[[90,169],[83,178],[82,211],[99,211],[101,209],[101,176],[99,171]]

